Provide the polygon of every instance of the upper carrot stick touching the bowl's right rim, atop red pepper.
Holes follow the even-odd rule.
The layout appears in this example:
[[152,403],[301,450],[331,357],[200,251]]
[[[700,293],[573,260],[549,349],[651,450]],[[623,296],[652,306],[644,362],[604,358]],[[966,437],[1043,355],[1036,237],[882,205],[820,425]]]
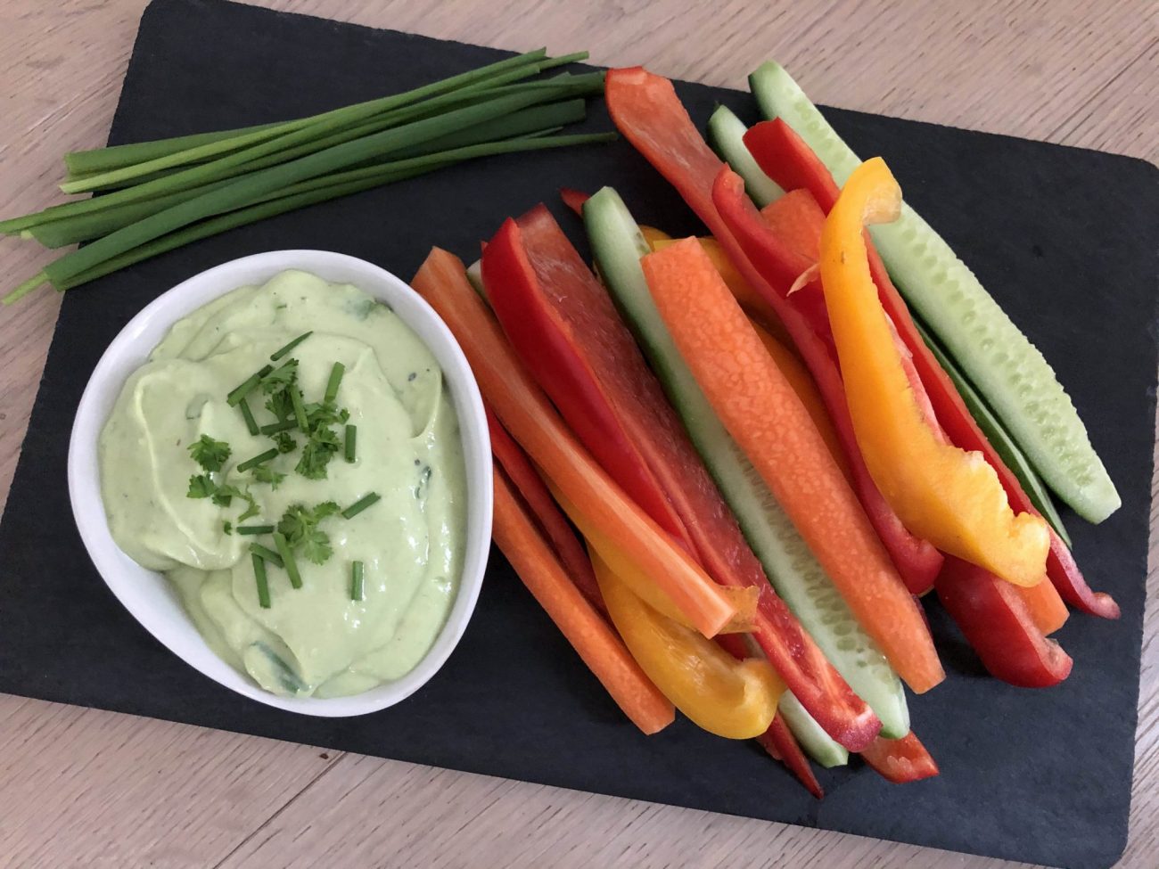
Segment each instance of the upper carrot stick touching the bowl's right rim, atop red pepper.
[[736,607],[575,439],[515,357],[467,280],[462,262],[435,248],[410,283],[454,333],[487,402],[532,461],[668,593],[697,630],[715,636]]

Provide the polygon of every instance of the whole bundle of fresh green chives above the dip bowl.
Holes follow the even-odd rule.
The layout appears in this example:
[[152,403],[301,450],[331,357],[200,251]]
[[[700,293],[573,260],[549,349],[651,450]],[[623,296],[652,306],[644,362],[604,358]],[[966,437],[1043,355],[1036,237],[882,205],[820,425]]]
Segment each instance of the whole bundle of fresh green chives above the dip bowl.
[[70,290],[192,241],[465,160],[607,141],[559,136],[582,121],[603,74],[533,76],[586,58],[542,49],[402,94],[278,124],[65,156],[66,193],[102,196],[0,221],[0,233],[65,254],[6,297]]

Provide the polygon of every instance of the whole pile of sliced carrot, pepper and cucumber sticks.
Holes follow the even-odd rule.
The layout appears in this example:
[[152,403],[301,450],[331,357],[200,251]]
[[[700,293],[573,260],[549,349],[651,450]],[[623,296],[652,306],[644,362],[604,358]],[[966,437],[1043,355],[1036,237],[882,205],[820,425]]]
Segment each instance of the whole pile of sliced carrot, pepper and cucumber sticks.
[[903,686],[943,679],[916,596],[994,677],[1057,685],[1066,604],[1118,608],[1050,491],[1094,521],[1118,497],[1042,355],[885,163],[780,67],[751,81],[771,119],[719,108],[709,147],[668,80],[605,80],[710,235],[564,188],[595,272],[538,205],[469,270],[436,248],[414,285],[489,406],[500,548],[628,718],[755,738],[817,796],[807,755],[916,781],[938,766]]

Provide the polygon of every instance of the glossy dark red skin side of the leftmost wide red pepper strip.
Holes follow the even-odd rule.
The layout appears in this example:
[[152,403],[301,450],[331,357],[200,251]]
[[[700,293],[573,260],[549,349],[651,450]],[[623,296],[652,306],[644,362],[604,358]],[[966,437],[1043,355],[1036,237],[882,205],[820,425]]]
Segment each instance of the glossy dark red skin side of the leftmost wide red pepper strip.
[[[586,266],[585,266],[586,268]],[[693,552],[684,523],[659,482],[624,431],[615,412],[561,330],[535,276],[515,220],[506,220],[483,248],[483,282],[488,300],[516,352],[560,408],[596,460],[665,532]],[[534,350],[532,350],[534,349]]]

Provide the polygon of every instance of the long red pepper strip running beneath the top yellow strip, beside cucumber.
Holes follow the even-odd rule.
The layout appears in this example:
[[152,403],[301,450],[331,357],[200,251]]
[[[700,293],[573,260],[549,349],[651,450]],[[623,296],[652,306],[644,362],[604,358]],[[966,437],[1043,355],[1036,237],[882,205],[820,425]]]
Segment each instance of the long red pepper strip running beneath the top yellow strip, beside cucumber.
[[[745,134],[745,145],[757,165],[778,184],[804,188],[828,213],[840,192],[832,174],[796,132],[780,118],[753,126]],[[913,324],[910,309],[890,280],[884,263],[873,244],[868,244],[869,270],[877,285],[879,298],[885,313],[894,321],[902,343],[912,356],[912,363],[925,387],[933,412],[950,443],[962,450],[981,452],[998,474],[1006,498],[1015,512],[1035,516],[1038,511],[1022,489],[1014,473],[1006,467],[978,423],[970,414],[954,382],[926,346]],[[1047,556],[1047,576],[1063,599],[1085,613],[1103,619],[1117,619],[1118,605],[1105,592],[1092,591],[1066,545],[1050,530],[1050,554]]]

